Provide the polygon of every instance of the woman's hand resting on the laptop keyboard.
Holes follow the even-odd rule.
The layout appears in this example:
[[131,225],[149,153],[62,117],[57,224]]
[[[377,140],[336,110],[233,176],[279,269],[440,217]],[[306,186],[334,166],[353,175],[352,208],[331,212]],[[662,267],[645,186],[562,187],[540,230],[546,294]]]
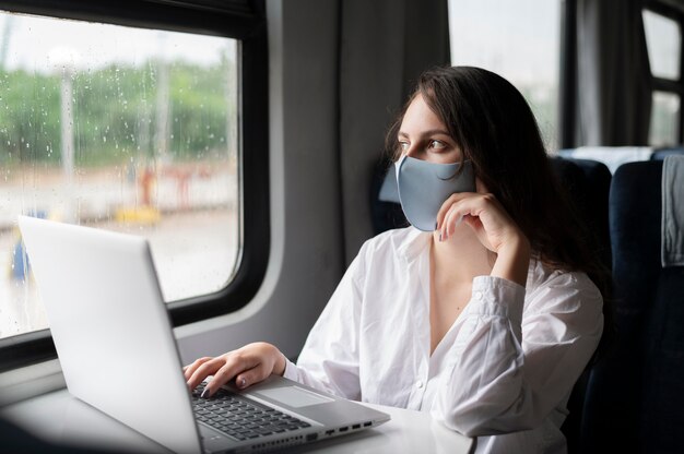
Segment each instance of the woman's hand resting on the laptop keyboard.
[[200,358],[182,370],[190,390],[207,377],[214,375],[202,393],[202,397],[209,397],[234,378],[236,386],[245,389],[266,380],[271,373],[282,375],[285,365],[285,356],[275,346],[259,342],[215,358]]

